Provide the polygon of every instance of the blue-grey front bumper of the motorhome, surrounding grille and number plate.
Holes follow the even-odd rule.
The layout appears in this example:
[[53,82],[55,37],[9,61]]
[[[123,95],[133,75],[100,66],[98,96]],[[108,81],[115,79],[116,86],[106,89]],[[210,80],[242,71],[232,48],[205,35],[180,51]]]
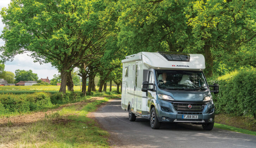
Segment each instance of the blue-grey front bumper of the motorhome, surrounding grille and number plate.
[[[193,104],[195,102],[184,102]],[[201,102],[202,103],[202,102]],[[157,106],[157,118],[159,122],[181,122],[181,123],[212,123],[214,122],[213,101],[205,104],[202,111],[177,111],[173,102],[159,100]],[[198,119],[183,119],[183,115],[197,115]]]

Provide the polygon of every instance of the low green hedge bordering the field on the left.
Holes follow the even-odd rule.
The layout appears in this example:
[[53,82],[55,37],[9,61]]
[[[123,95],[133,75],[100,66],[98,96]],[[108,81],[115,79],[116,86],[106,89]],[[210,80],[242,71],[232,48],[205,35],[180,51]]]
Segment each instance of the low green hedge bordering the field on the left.
[[81,92],[50,94],[36,92],[31,94],[0,94],[0,116],[12,113],[30,112],[55,104],[74,103],[85,99]]

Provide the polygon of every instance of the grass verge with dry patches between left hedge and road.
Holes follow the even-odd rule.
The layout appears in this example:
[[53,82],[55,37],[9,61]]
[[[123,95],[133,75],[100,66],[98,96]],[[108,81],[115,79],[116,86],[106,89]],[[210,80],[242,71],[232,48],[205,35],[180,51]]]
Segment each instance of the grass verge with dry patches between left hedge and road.
[[110,98],[116,96],[92,97],[64,105],[36,122],[0,125],[0,147],[109,147],[108,132],[87,114]]

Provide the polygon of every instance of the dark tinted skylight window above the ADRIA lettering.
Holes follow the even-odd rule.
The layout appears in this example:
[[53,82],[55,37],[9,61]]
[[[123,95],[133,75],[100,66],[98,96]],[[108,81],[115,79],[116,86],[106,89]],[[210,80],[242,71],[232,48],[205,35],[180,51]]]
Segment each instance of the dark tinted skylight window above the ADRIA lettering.
[[164,56],[168,61],[189,62],[190,60],[190,55],[185,53],[175,53],[175,52],[158,52],[158,53]]

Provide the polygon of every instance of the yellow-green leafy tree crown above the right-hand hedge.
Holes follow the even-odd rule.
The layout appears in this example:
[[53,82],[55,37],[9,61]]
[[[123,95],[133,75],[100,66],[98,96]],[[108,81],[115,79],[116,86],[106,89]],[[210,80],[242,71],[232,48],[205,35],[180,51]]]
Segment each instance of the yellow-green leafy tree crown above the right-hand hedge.
[[255,3],[255,0],[201,0],[191,1],[187,6],[188,25],[192,26],[196,39],[194,48],[205,51],[209,76],[213,62],[217,65],[223,62],[227,68],[256,66]]

